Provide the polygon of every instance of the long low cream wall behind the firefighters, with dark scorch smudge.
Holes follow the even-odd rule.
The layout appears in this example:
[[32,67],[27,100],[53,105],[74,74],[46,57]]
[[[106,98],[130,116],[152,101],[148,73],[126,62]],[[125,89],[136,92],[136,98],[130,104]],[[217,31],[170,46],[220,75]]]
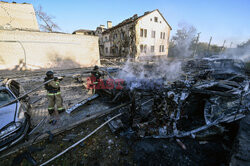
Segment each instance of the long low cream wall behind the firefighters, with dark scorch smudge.
[[25,57],[33,69],[98,65],[98,37],[0,30],[0,69],[13,69]]

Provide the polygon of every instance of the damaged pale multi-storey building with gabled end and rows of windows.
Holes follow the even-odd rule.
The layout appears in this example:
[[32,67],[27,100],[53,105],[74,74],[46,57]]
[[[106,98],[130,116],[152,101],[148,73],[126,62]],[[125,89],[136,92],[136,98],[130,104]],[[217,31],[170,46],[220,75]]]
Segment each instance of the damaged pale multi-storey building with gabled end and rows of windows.
[[171,26],[158,9],[145,12],[142,16],[135,14],[118,25],[107,28],[100,26],[99,46],[102,57],[131,57],[144,55],[168,55]]

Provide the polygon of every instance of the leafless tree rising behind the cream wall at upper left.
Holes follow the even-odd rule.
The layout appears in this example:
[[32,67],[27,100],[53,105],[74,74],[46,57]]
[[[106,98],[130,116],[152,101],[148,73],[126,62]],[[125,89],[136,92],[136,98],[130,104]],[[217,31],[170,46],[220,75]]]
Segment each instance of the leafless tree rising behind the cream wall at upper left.
[[60,27],[53,21],[55,17],[49,16],[45,13],[42,6],[38,6],[36,9],[36,16],[39,20],[39,26],[42,31],[55,32],[56,30],[60,30]]

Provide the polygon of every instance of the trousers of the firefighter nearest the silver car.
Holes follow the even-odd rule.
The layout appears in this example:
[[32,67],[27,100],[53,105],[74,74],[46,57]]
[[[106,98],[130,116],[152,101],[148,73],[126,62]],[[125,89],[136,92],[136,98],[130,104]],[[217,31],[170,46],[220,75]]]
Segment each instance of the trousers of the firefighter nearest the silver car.
[[61,92],[48,93],[48,102],[48,111],[50,115],[55,111],[55,105],[57,107],[58,113],[61,113],[65,110],[63,107]]

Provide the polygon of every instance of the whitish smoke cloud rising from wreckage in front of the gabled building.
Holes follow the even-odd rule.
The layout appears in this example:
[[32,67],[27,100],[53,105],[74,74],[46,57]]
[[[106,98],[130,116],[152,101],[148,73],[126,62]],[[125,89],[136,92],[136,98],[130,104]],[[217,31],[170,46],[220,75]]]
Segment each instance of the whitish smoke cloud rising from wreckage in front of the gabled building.
[[[152,57],[154,58],[154,57]],[[154,58],[154,61],[127,61],[117,77],[124,79],[129,88],[154,88],[177,80],[181,76],[181,62],[168,61],[167,58]]]

